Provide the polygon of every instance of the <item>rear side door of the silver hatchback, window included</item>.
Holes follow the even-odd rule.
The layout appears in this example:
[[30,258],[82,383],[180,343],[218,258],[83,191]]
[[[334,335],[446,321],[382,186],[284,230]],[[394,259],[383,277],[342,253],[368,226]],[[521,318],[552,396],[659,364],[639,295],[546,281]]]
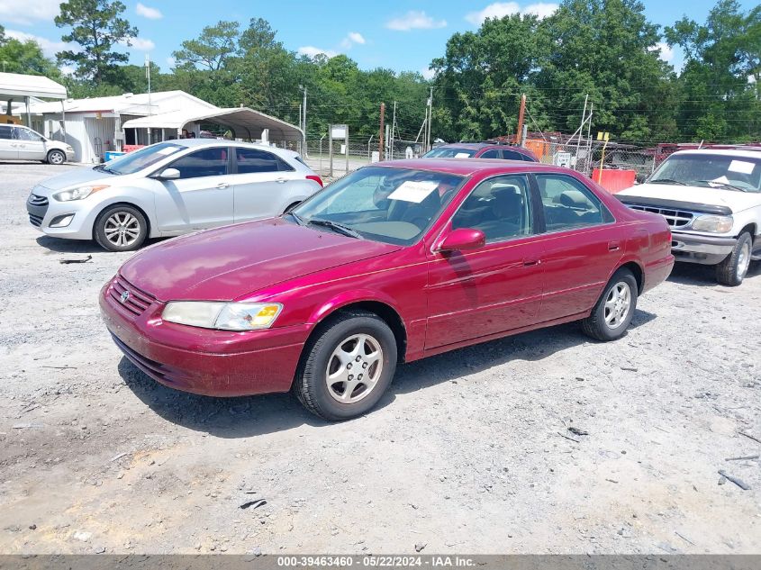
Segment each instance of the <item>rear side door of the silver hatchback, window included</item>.
[[293,204],[294,167],[263,149],[236,147],[234,155],[236,170],[231,184],[235,222],[270,218]]

